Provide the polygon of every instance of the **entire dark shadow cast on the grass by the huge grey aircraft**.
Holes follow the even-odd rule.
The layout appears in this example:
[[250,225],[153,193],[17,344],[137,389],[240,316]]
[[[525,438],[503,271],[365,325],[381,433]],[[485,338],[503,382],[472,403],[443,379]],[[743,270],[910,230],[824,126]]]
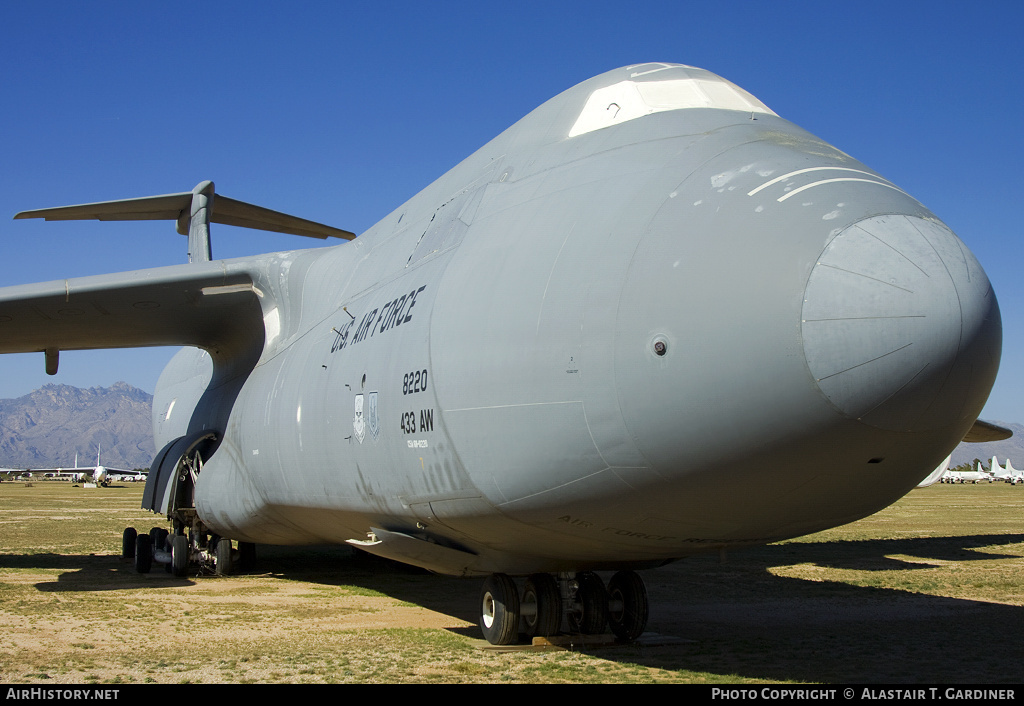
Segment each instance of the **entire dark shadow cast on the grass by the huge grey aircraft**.
[[[1024,607],[913,592],[893,576],[879,586],[854,585],[836,572],[966,569],[962,593],[987,585],[984,560],[1020,557],[1024,535],[975,535],[807,542],[700,555],[642,572],[650,595],[650,641],[593,654],[667,670],[694,670],[737,679],[831,682],[1020,681]],[[984,547],[984,551],[979,551]],[[482,580],[431,575],[346,547],[260,547],[255,573],[323,585],[356,585],[475,623]],[[112,566],[112,562],[117,562]],[[780,576],[812,567],[819,578]],[[191,579],[135,575],[111,556],[0,555],[3,568],[66,570],[40,590],[113,590],[184,585]],[[972,567],[977,567],[977,572]],[[864,582],[863,574],[860,581]],[[949,574],[947,573],[948,577]],[[948,579],[946,580],[948,583]],[[956,587],[954,586],[953,589]],[[936,586],[935,593],[950,587]],[[926,588],[928,590],[928,588]],[[473,628],[454,632],[479,638]],[[1017,655],[1017,657],[1015,657]]]

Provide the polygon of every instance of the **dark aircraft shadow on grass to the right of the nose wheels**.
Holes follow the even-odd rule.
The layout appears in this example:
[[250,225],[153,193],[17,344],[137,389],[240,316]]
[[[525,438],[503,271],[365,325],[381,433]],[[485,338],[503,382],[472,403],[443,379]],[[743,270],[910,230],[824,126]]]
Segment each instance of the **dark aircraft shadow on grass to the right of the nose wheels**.
[[[693,641],[665,655],[640,648],[636,661],[768,680],[1020,681],[1013,655],[1024,608],[940,594],[1006,581],[981,563],[1020,558],[1019,546],[999,550],[1020,542],[1024,535],[1000,534],[790,543],[645,572],[649,629]],[[934,585],[923,576],[948,565]],[[779,575],[790,567],[809,570]]]

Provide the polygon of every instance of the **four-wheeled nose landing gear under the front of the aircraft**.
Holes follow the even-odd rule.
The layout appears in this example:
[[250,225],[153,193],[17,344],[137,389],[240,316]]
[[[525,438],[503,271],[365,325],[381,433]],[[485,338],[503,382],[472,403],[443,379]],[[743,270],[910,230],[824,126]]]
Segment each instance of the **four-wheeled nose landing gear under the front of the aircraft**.
[[633,641],[647,626],[647,588],[632,571],[621,571],[605,588],[593,572],[532,574],[522,593],[506,574],[492,574],[480,593],[480,630],[492,645],[513,645],[521,631],[527,638],[559,633],[562,618],[574,634],[594,635],[610,629]]

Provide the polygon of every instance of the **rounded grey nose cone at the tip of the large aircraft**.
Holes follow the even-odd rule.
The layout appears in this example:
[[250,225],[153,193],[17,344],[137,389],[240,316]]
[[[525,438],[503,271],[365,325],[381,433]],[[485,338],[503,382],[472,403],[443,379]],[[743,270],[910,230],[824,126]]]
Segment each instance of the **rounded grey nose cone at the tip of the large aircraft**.
[[904,215],[865,218],[828,243],[801,329],[831,404],[897,431],[973,421],[1001,347],[998,305],[974,255],[941,222]]

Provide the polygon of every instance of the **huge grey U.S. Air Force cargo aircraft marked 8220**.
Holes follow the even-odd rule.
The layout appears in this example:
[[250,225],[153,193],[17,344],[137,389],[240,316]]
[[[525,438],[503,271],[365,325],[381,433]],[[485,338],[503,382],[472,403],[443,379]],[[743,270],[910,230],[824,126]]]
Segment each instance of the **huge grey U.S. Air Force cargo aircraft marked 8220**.
[[[690,67],[568,89],[358,238],[209,181],[36,216],[188,236],[188,264],[0,290],[0,351],[51,372],[187,346],[143,499],[170,537],[128,534],[140,569],[348,542],[483,577],[495,643],[635,638],[637,569],[889,505],[999,361],[988,279],[935,214]],[[213,260],[211,222],[351,242]]]

